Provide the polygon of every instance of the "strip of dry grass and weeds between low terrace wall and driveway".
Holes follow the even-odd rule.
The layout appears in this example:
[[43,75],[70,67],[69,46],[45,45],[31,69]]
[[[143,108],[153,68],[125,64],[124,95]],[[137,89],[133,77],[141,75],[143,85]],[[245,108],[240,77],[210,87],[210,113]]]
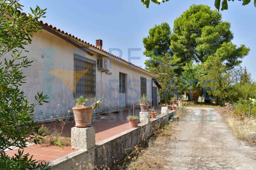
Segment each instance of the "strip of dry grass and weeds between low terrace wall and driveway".
[[176,130],[173,129],[177,126],[178,122],[170,120],[163,126],[159,127],[153,136],[148,139],[147,143],[142,143],[140,146],[135,146],[132,153],[127,155],[122,162],[120,168],[115,169],[164,169],[166,164],[165,151],[167,148],[166,141],[175,138]]

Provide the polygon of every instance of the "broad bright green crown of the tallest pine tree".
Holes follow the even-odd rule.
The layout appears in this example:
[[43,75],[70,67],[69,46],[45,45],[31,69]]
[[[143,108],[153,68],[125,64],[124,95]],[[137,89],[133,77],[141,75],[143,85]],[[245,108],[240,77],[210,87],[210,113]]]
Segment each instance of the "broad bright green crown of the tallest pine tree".
[[240,64],[250,49],[231,42],[230,23],[221,18],[210,6],[192,5],[175,19],[171,34],[172,64],[184,68],[204,63],[209,56],[220,58],[227,67]]

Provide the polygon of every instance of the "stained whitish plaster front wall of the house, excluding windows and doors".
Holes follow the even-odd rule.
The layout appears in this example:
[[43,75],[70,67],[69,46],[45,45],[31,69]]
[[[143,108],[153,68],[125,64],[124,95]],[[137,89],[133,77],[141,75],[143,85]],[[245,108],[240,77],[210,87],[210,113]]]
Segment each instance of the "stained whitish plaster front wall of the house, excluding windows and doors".
[[[104,42],[103,42],[104,45]],[[26,51],[25,51],[26,50]],[[49,120],[68,114],[76,103],[74,97],[74,54],[95,60],[96,65],[96,99],[102,98],[102,112],[119,110],[119,73],[126,74],[126,106],[132,107],[132,90],[134,103],[138,103],[140,97],[140,76],[147,78],[148,99],[152,98],[152,74],[146,73],[134,66],[127,66],[127,63],[112,56],[102,56],[97,49],[91,51],[90,56],[83,50],[53,35],[45,30],[33,36],[32,44],[25,46],[22,56],[33,60],[32,66],[25,68],[27,75],[26,84],[21,90],[27,95],[29,102],[34,102],[37,92],[44,92],[49,96],[49,103],[38,105],[35,108],[35,120]],[[6,54],[4,57],[9,57]],[[98,71],[98,59],[105,57],[109,59],[109,71],[111,75]],[[1,58],[1,60],[2,60]],[[86,104],[92,104],[92,97],[87,97]]]

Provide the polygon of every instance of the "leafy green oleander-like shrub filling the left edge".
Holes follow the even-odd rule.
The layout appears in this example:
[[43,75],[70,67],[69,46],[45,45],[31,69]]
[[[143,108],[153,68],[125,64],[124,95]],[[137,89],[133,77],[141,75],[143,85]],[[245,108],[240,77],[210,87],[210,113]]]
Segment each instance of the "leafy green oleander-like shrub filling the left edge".
[[[24,45],[31,43],[32,34],[42,27],[37,19],[44,17],[45,9],[38,6],[26,15],[19,0],[0,0],[0,169],[38,169],[45,164],[19,150],[9,157],[7,150],[27,147],[28,141],[38,143],[42,133],[33,120],[34,107],[46,102],[47,96],[37,93],[35,102],[29,103],[20,90],[26,76],[22,70],[32,61],[21,55]],[[4,55],[5,54],[5,55]],[[9,56],[4,58],[4,56]]]

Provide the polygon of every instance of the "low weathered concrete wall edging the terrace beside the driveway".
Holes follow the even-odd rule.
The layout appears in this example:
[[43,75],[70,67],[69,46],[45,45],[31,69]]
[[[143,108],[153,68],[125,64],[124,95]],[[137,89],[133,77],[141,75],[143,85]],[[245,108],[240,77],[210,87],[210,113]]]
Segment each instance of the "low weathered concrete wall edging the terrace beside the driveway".
[[[158,127],[160,123],[168,121],[171,114],[172,112],[169,114],[159,114],[158,117],[151,120],[150,123],[140,125],[138,128],[131,128],[98,142],[91,150],[80,149],[53,160],[49,163],[49,166],[51,166],[52,170],[78,168],[80,165],[84,165],[85,167],[88,165],[106,165],[111,168],[111,166],[114,165],[114,159],[122,158],[125,155],[126,149],[141,143],[141,141],[156,130],[156,127]],[[129,150],[126,150],[126,152],[129,152]]]

